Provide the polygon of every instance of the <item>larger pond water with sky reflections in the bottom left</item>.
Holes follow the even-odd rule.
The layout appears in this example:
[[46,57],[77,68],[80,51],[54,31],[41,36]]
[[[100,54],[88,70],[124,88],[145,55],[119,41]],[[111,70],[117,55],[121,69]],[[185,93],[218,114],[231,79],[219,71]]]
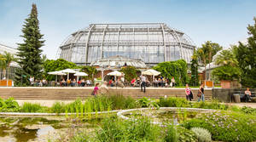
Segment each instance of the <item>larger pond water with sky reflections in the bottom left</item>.
[[70,128],[95,128],[100,118],[87,121],[61,116],[49,117],[0,117],[0,141],[32,142],[57,139]]

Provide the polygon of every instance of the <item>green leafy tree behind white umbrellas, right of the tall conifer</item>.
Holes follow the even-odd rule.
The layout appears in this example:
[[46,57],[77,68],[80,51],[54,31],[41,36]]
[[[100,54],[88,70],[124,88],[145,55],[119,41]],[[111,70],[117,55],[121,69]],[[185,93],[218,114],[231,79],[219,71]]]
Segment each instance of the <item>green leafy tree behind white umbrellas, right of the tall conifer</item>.
[[78,66],[73,62],[69,62],[63,59],[46,60],[43,66],[44,66],[44,76],[46,77],[47,80],[55,80],[55,76],[48,75],[47,72],[78,68]]

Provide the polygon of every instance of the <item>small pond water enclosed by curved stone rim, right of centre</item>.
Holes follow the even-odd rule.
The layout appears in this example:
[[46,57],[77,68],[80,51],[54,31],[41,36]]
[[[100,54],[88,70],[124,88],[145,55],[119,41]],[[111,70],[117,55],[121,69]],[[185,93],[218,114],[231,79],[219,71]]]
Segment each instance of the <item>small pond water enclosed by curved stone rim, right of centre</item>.
[[168,122],[178,124],[195,116],[206,113],[206,111],[187,111],[187,110],[143,110],[126,112],[124,116],[137,118],[147,116],[153,122]]

